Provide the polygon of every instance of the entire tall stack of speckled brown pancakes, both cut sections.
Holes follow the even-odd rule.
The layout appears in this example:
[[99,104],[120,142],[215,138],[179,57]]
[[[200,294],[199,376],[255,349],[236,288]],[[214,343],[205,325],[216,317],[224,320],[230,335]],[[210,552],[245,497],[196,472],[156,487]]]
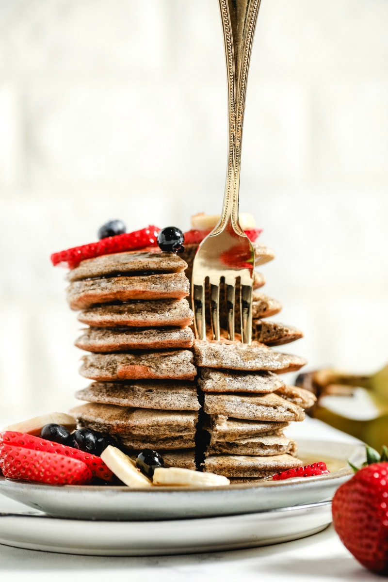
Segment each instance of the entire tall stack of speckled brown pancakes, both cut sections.
[[[252,345],[226,339],[226,313],[223,339],[194,340],[187,276],[197,247],[180,256],[158,249],[102,255],[69,272],[67,299],[89,326],[76,341],[89,352],[80,373],[93,381],[77,392],[87,403],[72,414],[79,426],[116,437],[129,454],[157,450],[166,466],[232,481],[300,466],[283,429],[303,420],[314,396],[280,376],[305,361],[272,346],[302,333],[265,319],[282,307],[260,292],[265,279],[255,272]],[[257,243],[254,250],[256,265],[274,257]],[[239,320],[237,309],[237,333]]]

